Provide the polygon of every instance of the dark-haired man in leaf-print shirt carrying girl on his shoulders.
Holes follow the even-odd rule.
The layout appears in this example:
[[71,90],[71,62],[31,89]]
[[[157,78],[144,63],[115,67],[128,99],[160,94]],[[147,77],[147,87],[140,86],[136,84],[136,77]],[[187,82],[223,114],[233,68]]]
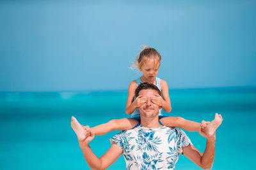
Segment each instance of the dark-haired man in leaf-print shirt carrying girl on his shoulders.
[[203,169],[211,169],[215,155],[215,132],[206,136],[204,129],[209,122],[202,122],[200,134],[207,138],[202,154],[191,143],[186,134],[176,128],[159,124],[159,108],[150,97],[159,94],[159,89],[150,83],[141,83],[136,94],[148,97],[147,103],[138,108],[141,123],[133,129],[122,131],[111,138],[111,147],[98,158],[89,146],[94,133],[88,126],[83,127],[72,117],[72,128],[77,134],[84,159],[92,169],[106,169],[124,153],[127,169],[174,169],[180,153],[184,154]]

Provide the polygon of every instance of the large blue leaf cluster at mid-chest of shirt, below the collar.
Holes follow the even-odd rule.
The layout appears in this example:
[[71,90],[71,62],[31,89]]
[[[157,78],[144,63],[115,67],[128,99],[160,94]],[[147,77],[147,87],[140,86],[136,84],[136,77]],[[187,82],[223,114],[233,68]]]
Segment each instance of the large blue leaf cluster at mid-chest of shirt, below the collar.
[[152,151],[159,152],[157,149],[157,145],[160,145],[161,139],[160,136],[156,136],[154,138],[155,132],[145,132],[142,129],[138,131],[138,139],[136,139],[136,143],[138,144],[137,150],[144,150],[144,151]]

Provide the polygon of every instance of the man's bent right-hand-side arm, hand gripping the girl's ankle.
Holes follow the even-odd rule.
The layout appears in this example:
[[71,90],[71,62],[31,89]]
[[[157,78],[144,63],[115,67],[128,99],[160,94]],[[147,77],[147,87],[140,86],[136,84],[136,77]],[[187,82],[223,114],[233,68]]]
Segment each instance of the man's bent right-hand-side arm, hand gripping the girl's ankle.
[[[208,124],[208,122],[203,121],[202,124],[202,127],[205,127],[205,124]],[[202,127],[200,128],[200,134],[206,137],[206,134],[202,132]],[[211,169],[215,156],[215,141],[216,136],[214,132],[213,136],[207,138],[204,154],[198,151],[193,145],[184,146],[182,148],[183,154],[203,169]]]

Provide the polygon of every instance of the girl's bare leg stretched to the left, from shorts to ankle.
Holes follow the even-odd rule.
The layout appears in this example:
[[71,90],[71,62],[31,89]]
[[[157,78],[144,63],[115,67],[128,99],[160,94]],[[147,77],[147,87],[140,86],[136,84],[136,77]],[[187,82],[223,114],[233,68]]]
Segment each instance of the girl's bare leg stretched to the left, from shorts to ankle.
[[95,133],[95,135],[103,135],[111,131],[124,131],[132,129],[132,127],[136,126],[138,123],[139,121],[135,120],[134,118],[121,118],[116,120],[110,120],[106,124],[97,125],[95,127],[92,127],[91,130]]

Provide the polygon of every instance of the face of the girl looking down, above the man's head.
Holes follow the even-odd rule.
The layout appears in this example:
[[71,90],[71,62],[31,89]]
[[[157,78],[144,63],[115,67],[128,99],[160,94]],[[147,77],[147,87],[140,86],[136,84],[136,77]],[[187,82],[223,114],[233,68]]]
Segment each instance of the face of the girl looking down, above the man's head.
[[159,67],[156,67],[158,60],[157,59],[145,59],[140,71],[142,71],[144,78],[149,81],[152,81],[156,78]]

